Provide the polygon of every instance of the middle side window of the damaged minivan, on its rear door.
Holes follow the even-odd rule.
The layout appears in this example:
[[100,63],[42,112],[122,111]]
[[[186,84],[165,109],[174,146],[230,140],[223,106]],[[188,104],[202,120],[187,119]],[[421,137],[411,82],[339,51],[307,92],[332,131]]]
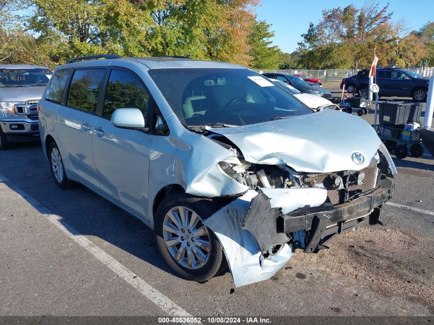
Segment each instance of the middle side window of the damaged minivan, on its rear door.
[[91,113],[97,112],[98,91],[105,69],[80,69],[74,72],[67,105]]

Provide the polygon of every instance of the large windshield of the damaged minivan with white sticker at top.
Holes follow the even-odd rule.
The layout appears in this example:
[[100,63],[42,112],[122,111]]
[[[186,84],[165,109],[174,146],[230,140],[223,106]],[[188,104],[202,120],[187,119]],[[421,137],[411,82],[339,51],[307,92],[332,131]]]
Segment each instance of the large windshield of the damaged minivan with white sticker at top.
[[149,75],[186,126],[249,125],[312,112],[248,69],[151,69]]

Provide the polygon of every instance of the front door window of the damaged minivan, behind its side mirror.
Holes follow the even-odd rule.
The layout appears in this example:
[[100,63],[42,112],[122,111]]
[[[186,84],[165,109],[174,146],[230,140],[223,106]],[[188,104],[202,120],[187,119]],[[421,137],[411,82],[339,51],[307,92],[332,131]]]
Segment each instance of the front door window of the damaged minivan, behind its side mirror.
[[138,108],[146,121],[149,94],[142,81],[134,74],[112,70],[105,92],[103,116],[110,119],[118,108]]

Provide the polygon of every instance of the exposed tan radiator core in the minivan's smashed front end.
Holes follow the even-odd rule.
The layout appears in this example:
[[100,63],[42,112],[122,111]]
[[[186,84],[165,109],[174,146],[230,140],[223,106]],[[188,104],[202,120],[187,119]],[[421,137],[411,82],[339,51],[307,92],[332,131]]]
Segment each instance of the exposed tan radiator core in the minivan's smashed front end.
[[362,185],[351,184],[347,189],[337,189],[330,187],[327,185],[329,182],[326,180],[329,177],[337,176],[338,173],[331,174],[321,174],[315,175],[313,177],[307,177],[305,179],[305,183],[314,186],[315,184],[323,184],[327,189],[327,197],[330,200],[330,203],[333,205],[345,203],[345,198],[348,194],[349,197],[352,197],[357,194],[361,194],[367,192],[368,190],[374,187],[374,178],[376,175],[376,164],[371,163],[368,167],[363,168],[360,172],[363,171],[365,173],[365,178],[362,181]]

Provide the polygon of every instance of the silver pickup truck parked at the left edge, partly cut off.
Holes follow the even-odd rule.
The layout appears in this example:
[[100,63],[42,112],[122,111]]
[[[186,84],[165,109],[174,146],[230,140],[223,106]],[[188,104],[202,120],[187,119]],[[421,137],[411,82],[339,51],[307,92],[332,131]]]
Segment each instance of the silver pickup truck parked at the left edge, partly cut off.
[[36,65],[0,65],[0,149],[39,141],[36,105],[52,71]]

